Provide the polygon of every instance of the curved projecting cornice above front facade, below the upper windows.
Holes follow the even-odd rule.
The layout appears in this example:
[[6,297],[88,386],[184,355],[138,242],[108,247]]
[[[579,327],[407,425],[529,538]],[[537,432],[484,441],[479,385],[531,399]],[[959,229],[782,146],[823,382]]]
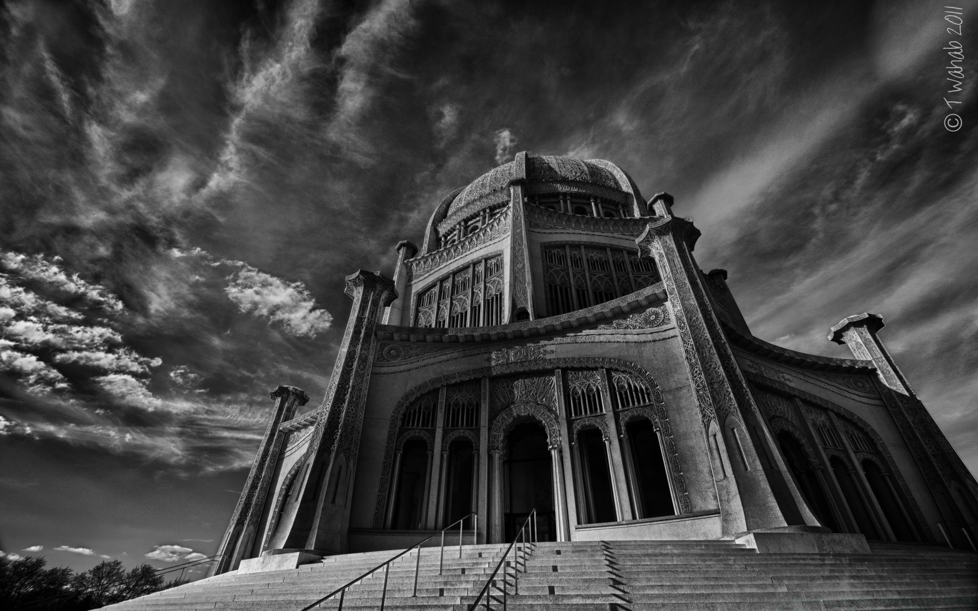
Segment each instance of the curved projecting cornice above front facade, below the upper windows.
[[590,308],[535,321],[520,321],[519,323],[495,327],[460,328],[378,325],[376,333],[379,339],[426,343],[468,343],[539,337],[558,333],[564,329],[589,327],[619,318],[636,310],[645,310],[645,308],[659,305],[665,301],[665,286],[658,283]]

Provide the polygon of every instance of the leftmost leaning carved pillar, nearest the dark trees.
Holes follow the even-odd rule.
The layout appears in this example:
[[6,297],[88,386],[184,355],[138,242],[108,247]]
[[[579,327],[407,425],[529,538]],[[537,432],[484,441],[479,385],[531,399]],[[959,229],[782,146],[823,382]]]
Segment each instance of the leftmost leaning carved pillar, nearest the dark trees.
[[268,489],[278,470],[282,444],[288,436],[279,427],[295,415],[297,408],[309,402],[309,395],[294,386],[278,386],[269,394],[275,400],[275,408],[251,464],[251,471],[244,481],[238,506],[235,507],[224,539],[217,548],[217,553],[224,555],[218,562],[211,564],[208,576],[234,571],[242,559],[256,555],[252,544],[260,541],[255,537],[259,528],[258,522],[265,510]]

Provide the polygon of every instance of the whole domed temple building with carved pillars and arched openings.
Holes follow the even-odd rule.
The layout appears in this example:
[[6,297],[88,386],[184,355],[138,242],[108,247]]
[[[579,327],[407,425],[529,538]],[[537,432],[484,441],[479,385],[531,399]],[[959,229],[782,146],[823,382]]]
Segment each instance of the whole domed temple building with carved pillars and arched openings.
[[212,574],[467,515],[466,541],[502,543],[534,508],[559,542],[975,548],[978,484],[882,318],[831,327],[853,359],[755,337],[673,207],[608,161],[527,153],[445,197],[393,280],[347,277],[323,404],[272,392]]

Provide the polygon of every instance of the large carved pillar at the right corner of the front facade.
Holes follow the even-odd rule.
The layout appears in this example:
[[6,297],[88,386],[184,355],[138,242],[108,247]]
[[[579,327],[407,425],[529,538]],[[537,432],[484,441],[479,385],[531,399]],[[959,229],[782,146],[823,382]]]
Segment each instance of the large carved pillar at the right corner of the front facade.
[[[691,251],[699,230],[690,221],[672,216],[672,196],[659,194],[652,201],[652,207],[660,216],[648,223],[636,242],[643,254],[654,257],[665,284],[703,429],[709,431],[710,422],[716,421],[722,430],[730,416],[745,422],[744,414],[756,415],[757,406],[733,359],[733,350],[692,258]],[[721,453],[728,452],[726,444],[718,445],[718,448]],[[753,443],[743,450],[754,463],[757,453]],[[723,461],[733,463],[729,456]],[[735,469],[733,477],[717,479],[724,533],[735,535],[748,530],[787,526],[779,505],[790,503],[797,511],[795,500],[782,479],[769,481],[769,478],[782,477],[777,471]]]

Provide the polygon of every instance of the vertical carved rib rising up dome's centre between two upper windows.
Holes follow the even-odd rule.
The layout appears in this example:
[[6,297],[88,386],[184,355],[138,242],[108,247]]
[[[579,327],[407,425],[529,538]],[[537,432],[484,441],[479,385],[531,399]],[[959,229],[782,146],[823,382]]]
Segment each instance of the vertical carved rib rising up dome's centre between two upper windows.
[[526,211],[523,197],[526,189],[526,153],[516,153],[510,185],[510,294],[503,323],[513,322],[513,313],[525,308],[530,320],[537,316],[533,308],[533,279],[526,239]]

